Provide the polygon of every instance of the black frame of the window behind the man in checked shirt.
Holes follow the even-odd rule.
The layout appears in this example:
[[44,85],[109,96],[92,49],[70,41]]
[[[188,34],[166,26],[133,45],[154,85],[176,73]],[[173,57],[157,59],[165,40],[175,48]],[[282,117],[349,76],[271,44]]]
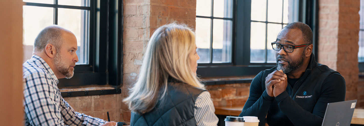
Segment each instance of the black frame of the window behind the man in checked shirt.
[[23,3],[29,6],[54,8],[54,24],[57,24],[58,8],[90,11],[89,62],[76,65],[74,76],[70,79],[59,79],[58,87],[112,85],[114,88],[120,88],[123,77],[123,2],[122,0],[89,2],[90,7],[58,5],[58,0],[54,0],[54,4]]

